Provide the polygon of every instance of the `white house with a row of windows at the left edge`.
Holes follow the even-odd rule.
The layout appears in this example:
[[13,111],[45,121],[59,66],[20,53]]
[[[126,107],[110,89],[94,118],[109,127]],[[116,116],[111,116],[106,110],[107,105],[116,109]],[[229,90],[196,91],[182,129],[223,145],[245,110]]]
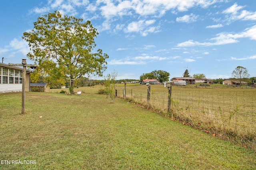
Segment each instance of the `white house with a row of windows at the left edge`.
[[[0,63],[0,93],[21,92],[22,91],[22,70],[18,66],[9,66]],[[29,91],[29,76],[31,70],[26,71],[26,89]]]

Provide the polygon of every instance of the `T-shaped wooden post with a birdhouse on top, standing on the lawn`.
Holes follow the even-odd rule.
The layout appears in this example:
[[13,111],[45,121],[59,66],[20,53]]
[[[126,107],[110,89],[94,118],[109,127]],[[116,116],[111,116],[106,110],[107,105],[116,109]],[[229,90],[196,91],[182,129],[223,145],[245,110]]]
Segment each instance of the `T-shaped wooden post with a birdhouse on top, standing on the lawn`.
[[26,59],[22,59],[21,64],[10,64],[9,66],[23,66],[23,71],[22,71],[22,110],[21,114],[25,114],[25,88],[26,88],[26,68],[28,66],[30,67],[39,67],[38,64],[27,64]]

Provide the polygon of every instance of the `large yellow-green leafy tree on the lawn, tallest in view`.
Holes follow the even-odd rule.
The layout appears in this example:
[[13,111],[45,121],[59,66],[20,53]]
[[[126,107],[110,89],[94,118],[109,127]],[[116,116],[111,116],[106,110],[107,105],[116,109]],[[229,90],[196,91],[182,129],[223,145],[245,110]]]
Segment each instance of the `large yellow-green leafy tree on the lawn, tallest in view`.
[[[34,22],[34,29],[23,33],[31,52],[27,57],[40,65],[40,72],[51,78],[70,80],[70,94],[78,78],[85,74],[102,76],[108,55],[94,50],[98,35],[90,21],[48,13]],[[64,83],[64,82],[63,82]]]

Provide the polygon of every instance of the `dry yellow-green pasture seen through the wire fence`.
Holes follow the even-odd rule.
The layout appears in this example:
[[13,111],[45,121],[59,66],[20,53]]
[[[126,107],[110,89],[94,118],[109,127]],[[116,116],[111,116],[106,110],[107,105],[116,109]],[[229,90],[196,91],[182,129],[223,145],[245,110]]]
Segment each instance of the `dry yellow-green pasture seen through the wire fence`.
[[214,89],[175,87],[171,91],[168,113],[168,89],[118,89],[118,96],[158,111],[167,117],[208,129],[212,133],[240,135],[256,141],[256,89]]

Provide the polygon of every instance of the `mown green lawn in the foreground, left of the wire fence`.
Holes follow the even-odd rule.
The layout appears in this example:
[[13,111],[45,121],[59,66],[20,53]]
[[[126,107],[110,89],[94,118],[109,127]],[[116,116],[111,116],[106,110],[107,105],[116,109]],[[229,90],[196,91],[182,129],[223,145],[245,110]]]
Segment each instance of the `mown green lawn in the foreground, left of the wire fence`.
[[[0,169],[243,169],[256,153],[104,95],[0,94]],[[42,118],[39,118],[42,116]],[[2,163],[2,161],[1,161]]]

